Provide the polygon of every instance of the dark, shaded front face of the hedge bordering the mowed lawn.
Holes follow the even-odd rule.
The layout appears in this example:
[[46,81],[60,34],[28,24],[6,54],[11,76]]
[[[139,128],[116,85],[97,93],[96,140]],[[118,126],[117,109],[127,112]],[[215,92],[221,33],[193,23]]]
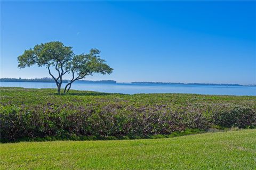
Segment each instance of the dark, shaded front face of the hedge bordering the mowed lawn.
[[165,105],[134,107],[108,104],[92,105],[5,105],[0,107],[1,141],[22,138],[147,138],[186,129],[207,130],[216,126],[253,128],[256,112],[245,106],[206,109],[180,108]]

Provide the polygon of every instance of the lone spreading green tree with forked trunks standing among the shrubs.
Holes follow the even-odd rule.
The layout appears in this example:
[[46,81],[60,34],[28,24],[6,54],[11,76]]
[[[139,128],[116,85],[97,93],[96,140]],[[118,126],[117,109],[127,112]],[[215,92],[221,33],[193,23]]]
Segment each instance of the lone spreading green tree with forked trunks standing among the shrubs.
[[[36,45],[33,49],[25,50],[18,57],[18,67],[46,66],[57,85],[58,93],[60,93],[63,75],[71,73],[72,79],[64,89],[64,93],[66,93],[73,82],[84,79],[86,75],[112,73],[113,69],[105,63],[105,60],[100,58],[99,54],[100,51],[98,49],[91,49],[89,54],[75,55],[72,47],[67,47],[60,41],[52,41]],[[55,69],[57,77],[54,77],[51,69]]]

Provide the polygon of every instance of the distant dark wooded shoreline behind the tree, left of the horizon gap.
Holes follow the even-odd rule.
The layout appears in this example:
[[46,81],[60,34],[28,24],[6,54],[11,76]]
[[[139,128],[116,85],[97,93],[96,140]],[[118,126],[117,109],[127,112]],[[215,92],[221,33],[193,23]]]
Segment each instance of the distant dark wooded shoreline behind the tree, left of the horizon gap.
[[[22,79],[22,78],[0,78],[0,81],[2,82],[55,82],[53,78],[35,78],[35,79]],[[63,83],[68,83],[69,80],[62,80]],[[116,83],[114,80],[98,80],[98,81],[92,81],[92,80],[78,80],[77,82],[83,82],[83,83]]]

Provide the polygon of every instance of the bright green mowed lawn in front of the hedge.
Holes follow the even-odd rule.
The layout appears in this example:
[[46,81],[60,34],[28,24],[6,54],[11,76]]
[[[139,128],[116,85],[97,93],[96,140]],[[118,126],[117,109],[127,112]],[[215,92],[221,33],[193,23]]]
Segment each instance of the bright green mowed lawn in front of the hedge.
[[256,169],[256,130],[1,144],[1,169]]

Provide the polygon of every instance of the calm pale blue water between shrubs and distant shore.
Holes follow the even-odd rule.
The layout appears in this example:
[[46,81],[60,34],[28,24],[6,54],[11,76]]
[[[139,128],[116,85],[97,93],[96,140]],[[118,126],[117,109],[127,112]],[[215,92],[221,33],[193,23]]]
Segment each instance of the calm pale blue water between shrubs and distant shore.
[[[23,88],[56,88],[55,83],[45,82],[0,82],[1,87]],[[65,87],[65,83],[62,87]],[[249,86],[210,86],[210,85],[177,85],[177,84],[101,84],[82,83],[72,84],[71,89],[100,92],[115,92],[121,94],[150,94],[150,93],[181,93],[203,95],[237,95],[256,96],[256,87]]]

